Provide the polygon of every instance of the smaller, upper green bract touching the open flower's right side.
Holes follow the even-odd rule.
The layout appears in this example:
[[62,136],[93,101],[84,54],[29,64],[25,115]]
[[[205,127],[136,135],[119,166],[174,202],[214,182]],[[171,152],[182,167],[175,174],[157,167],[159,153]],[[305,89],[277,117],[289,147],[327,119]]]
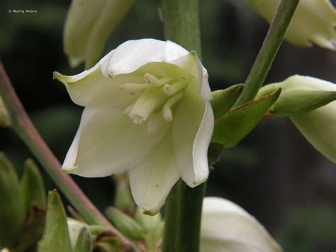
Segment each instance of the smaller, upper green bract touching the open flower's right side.
[[235,84],[227,89],[216,90],[212,92],[213,99],[211,100],[211,106],[213,108],[213,114],[215,118],[219,116],[223,116],[226,112],[228,112],[238,97],[242,93],[242,89],[244,88],[244,84]]

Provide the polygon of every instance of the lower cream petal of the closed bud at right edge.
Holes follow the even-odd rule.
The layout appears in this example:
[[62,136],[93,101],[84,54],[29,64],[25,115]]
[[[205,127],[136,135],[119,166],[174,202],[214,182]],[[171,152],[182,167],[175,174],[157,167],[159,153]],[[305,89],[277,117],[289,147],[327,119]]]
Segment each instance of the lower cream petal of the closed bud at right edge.
[[336,163],[336,102],[292,116],[291,121],[312,146]]

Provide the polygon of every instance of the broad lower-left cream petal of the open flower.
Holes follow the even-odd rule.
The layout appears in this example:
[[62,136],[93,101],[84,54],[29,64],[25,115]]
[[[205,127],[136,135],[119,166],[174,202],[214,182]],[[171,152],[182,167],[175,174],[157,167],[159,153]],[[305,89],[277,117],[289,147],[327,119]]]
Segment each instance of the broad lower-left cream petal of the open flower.
[[148,136],[147,122],[133,124],[122,109],[84,109],[81,124],[62,169],[83,177],[103,177],[135,168],[169,131],[161,119],[159,131]]

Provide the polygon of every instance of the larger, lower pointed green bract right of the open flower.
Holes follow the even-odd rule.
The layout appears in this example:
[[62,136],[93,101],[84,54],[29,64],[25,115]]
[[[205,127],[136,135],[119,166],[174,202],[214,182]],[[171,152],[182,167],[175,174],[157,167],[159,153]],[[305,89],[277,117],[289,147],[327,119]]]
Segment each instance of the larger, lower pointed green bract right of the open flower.
[[213,143],[223,144],[225,147],[235,146],[242,138],[259,123],[268,109],[276,102],[281,89],[271,94],[247,102],[230,110],[227,114],[215,119]]

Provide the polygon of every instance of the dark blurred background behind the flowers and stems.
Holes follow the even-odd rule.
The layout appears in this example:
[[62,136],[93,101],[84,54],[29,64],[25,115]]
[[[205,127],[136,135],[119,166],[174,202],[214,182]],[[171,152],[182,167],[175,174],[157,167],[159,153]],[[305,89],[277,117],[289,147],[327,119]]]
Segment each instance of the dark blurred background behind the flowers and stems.
[[[52,80],[57,70],[72,75],[62,52],[62,28],[69,1],[1,1],[0,57],[35,126],[63,160],[79,125],[82,108]],[[38,13],[9,13],[33,9]],[[106,52],[135,38],[163,39],[159,1],[136,1],[111,35]],[[243,82],[268,25],[245,1],[200,1],[203,65],[213,90]],[[267,83],[294,74],[336,82],[336,53],[314,47],[281,46]],[[0,129],[0,151],[20,170],[31,154],[11,131]],[[100,208],[113,202],[110,177],[74,176]],[[45,176],[47,188],[52,181]],[[233,200],[267,227],[285,251],[335,251],[336,167],[313,149],[289,119],[274,118],[225,150],[211,170],[207,195]]]

